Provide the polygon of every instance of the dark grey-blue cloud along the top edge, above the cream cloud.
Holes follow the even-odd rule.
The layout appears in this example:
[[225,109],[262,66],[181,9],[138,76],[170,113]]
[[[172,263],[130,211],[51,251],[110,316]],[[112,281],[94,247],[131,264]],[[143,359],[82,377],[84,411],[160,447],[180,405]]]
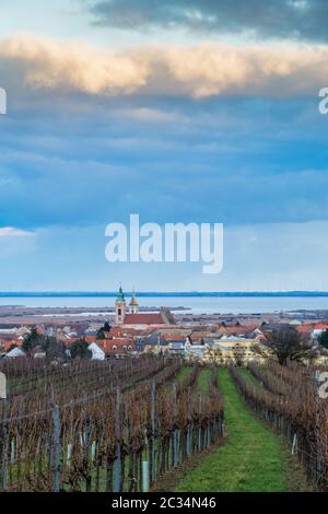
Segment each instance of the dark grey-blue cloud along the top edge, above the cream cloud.
[[95,22],[122,28],[183,26],[218,34],[328,39],[327,0],[94,0]]

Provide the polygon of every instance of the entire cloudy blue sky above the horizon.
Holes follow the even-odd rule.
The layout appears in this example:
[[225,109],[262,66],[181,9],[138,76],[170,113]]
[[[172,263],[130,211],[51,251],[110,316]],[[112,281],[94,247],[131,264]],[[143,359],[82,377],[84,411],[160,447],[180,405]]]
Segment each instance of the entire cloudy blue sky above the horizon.
[[[0,10],[0,291],[328,290],[326,1]],[[108,262],[131,213],[223,223],[222,272]]]

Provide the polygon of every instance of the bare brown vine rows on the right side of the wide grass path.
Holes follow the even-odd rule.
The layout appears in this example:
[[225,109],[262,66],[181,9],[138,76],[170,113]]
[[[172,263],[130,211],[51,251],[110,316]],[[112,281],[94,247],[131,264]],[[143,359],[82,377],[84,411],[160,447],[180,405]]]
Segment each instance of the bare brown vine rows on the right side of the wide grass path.
[[293,364],[251,363],[245,372],[233,369],[233,378],[246,402],[283,434],[304,466],[315,490],[328,490],[328,404],[318,395],[316,371]]

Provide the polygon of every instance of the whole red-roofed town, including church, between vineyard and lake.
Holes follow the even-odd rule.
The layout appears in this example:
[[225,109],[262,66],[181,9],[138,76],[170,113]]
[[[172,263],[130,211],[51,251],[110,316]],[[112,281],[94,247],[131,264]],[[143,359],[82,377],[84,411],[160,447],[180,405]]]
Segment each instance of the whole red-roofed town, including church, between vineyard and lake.
[[[40,314],[40,308],[1,308],[1,359],[50,358],[60,363],[75,358],[103,361],[151,353],[204,364],[242,365],[259,359],[273,331],[293,329],[313,349],[320,349],[323,362],[328,361],[325,346],[319,344],[328,335],[325,312],[294,313],[294,317],[291,313],[195,315],[187,309],[174,314],[167,307],[141,308],[136,292],[128,299],[121,287],[113,307],[82,309],[82,315],[78,308],[52,316],[49,308],[46,314]],[[16,323],[17,312],[21,323]]]

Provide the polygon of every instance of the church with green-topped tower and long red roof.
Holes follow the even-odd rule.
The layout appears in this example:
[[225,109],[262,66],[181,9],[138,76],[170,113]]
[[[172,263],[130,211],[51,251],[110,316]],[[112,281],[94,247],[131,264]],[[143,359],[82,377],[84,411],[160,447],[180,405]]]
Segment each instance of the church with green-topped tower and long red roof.
[[137,328],[141,330],[149,327],[155,328],[175,325],[174,316],[167,308],[161,308],[157,313],[139,313],[136,291],[133,290],[132,297],[129,304],[127,304],[121,287],[119,288],[115,302],[115,322],[116,325],[125,328]]

